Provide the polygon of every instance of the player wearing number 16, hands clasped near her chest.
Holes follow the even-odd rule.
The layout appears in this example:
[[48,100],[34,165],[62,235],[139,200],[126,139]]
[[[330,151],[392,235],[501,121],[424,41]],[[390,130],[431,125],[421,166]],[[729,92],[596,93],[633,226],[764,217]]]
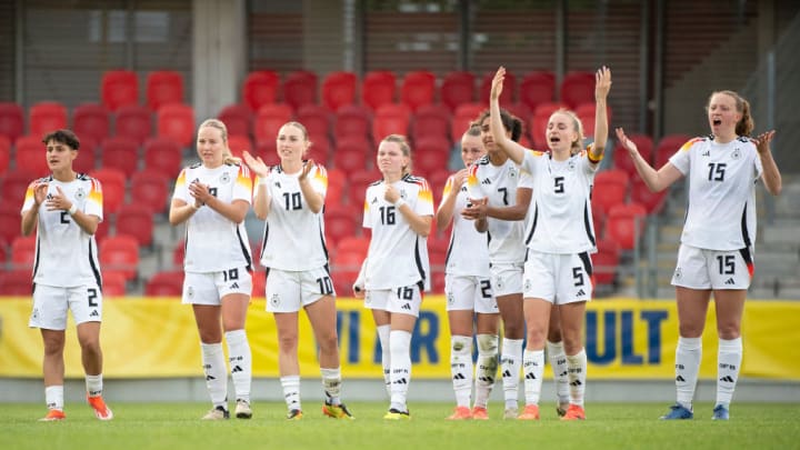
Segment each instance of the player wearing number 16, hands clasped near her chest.
[[383,377],[391,394],[383,419],[408,420],[411,332],[422,290],[430,282],[427,237],[433,199],[428,181],[410,173],[411,149],[404,137],[383,138],[377,163],[383,179],[367,188],[363,226],[372,230],[372,238],[353,290],[372,310],[383,350]]

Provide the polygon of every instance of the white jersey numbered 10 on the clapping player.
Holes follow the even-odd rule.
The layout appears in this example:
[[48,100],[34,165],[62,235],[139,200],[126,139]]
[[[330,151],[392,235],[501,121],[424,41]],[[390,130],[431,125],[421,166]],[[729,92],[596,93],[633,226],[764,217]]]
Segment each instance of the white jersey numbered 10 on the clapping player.
[[[300,173],[288,174],[280,166],[270,170],[267,191],[270,211],[264,223],[261,264],[289,271],[318,269],[328,263],[322,213],[309,209],[300,190]],[[314,166],[308,174],[314,192],[324,200],[328,172]]]

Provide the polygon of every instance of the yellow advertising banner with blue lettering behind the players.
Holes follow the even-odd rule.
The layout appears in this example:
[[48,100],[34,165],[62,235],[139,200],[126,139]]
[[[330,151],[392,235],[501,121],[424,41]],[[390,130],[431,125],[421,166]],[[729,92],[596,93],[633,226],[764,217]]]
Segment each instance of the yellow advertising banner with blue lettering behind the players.
[[[338,328],[342,373],[380,378],[380,344],[371,313],[361,301],[339,299]],[[28,328],[29,299],[0,298],[0,377],[41,377],[39,331]],[[703,337],[701,378],[717,374],[713,304]],[[278,377],[278,339],[263,299],[250,306],[247,332],[254,377]],[[589,303],[586,319],[589,376],[594,379],[671,379],[678,317],[673,301],[632,299]],[[742,334],[742,376],[800,380],[800,302],[748,301]],[[101,342],[108,378],[197,377],[200,344],[191,307],[178,299],[107,299]],[[413,376],[450,377],[450,330],[444,298],[427,297],[411,343]],[[300,314],[300,370],[319,377],[313,332]],[[80,348],[70,321],[67,377],[81,378]],[[549,371],[548,371],[549,372]]]

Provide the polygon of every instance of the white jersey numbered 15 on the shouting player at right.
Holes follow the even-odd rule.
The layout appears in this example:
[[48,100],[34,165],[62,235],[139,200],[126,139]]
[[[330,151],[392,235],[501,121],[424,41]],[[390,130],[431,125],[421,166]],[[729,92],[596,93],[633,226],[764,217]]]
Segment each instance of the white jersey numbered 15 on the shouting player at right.
[[756,181],[763,169],[754,143],[694,138],[670,162],[689,179],[682,243],[739,250],[756,242]]

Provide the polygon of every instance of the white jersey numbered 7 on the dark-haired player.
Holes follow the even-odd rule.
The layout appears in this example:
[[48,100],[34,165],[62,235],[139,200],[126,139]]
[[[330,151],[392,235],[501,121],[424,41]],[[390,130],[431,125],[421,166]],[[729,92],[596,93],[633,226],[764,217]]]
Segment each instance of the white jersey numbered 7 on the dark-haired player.
[[[488,198],[493,207],[509,207],[517,201],[520,168],[511,159],[502,166],[493,166],[488,156],[476,161],[469,169],[467,190],[473,199]],[[491,262],[522,262],[524,222],[488,218],[489,260]]]

